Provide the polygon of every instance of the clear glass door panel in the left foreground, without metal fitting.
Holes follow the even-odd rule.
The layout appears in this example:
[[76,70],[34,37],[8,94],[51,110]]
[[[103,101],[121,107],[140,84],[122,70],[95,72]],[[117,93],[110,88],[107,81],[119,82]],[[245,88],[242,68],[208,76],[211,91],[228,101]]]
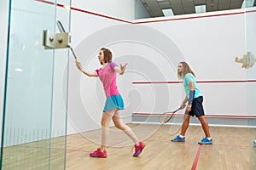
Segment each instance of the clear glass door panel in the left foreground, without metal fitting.
[[[65,169],[68,49],[44,49],[70,0],[10,0],[1,169]],[[66,7],[66,8],[65,8]]]

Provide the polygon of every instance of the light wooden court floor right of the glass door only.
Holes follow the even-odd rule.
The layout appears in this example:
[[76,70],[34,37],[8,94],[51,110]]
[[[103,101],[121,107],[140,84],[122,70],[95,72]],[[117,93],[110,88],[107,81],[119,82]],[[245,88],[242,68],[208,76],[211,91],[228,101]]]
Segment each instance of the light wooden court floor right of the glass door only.
[[185,143],[172,143],[177,133],[170,135],[171,125],[129,126],[147,144],[141,156],[131,156],[131,139],[112,127],[108,158],[91,158],[89,153],[96,150],[101,137],[101,131],[96,130],[68,136],[67,170],[256,169],[255,128],[210,127],[213,144],[200,145],[197,142],[204,136],[201,127],[190,126]]

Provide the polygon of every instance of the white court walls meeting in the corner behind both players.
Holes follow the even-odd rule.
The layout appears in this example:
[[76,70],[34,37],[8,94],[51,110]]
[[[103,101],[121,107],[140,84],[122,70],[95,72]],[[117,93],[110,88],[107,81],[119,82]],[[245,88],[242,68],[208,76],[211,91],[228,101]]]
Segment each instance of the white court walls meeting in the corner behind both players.
[[[236,56],[247,50],[242,12],[189,14],[129,24],[73,11],[74,49],[90,71],[101,66],[97,52],[102,47],[113,50],[113,61],[129,63],[125,75],[118,77],[127,122],[133,112],[154,114],[180,105],[183,85],[172,82],[178,81],[181,60],[188,61],[197,81],[203,82],[198,86],[207,115],[247,116],[247,84],[242,82],[247,80],[247,71],[235,63]],[[72,62],[69,79],[68,133],[99,128],[105,100],[101,83],[81,76]]]

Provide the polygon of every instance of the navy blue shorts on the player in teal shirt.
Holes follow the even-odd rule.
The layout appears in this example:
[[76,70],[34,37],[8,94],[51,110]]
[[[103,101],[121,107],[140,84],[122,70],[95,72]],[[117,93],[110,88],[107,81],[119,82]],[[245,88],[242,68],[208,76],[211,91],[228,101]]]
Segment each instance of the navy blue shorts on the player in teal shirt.
[[203,102],[202,96],[193,99],[192,108],[191,108],[191,111],[189,111],[189,115],[196,116],[196,117],[204,116],[205,111],[204,111],[202,102]]

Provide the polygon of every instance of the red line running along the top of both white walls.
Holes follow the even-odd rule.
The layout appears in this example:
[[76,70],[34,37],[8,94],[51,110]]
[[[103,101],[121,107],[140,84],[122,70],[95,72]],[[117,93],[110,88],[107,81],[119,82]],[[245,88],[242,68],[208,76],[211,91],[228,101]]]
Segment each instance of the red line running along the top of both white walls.
[[[48,4],[51,4],[51,5],[57,5],[58,7],[64,8],[64,5],[60,4],[60,3],[52,3],[52,2],[49,2],[49,1],[45,1],[45,0],[35,0],[35,1],[38,1],[38,2],[41,2],[41,3],[48,3]],[[234,15],[234,14],[246,14],[246,13],[256,12],[256,10],[250,10],[250,11],[242,11],[242,12],[228,13],[228,14],[209,14],[209,15],[203,15],[203,16],[183,17],[183,18],[177,18],[177,19],[148,20],[148,21],[134,21],[134,22],[131,22],[131,21],[128,21],[128,20],[121,20],[121,19],[110,17],[110,16],[103,15],[103,14],[96,14],[96,13],[93,13],[93,12],[90,12],[90,11],[86,11],[86,10],[80,9],[80,8],[73,8],[73,7],[71,7],[71,9],[75,10],[75,11],[82,12],[82,13],[93,14],[93,15],[100,16],[100,17],[103,17],[103,18],[108,18],[110,20],[118,20],[118,21],[121,21],[121,22],[130,23],[130,24],[145,24],[145,23],[163,22],[163,21],[171,21],[171,20],[191,20],[191,19],[199,19],[199,18],[209,18],[209,17],[216,17],[216,16]]]

